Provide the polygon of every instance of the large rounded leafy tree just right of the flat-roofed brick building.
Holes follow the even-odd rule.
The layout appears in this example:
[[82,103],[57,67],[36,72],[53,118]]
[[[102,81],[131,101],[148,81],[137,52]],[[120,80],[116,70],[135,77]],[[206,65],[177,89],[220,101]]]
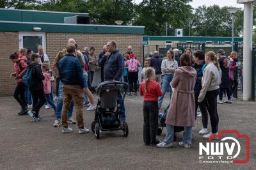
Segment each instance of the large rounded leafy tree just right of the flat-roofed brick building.
[[165,35],[165,23],[175,28],[184,28],[192,14],[191,0],[143,0],[136,7],[134,24],[145,26],[146,35]]

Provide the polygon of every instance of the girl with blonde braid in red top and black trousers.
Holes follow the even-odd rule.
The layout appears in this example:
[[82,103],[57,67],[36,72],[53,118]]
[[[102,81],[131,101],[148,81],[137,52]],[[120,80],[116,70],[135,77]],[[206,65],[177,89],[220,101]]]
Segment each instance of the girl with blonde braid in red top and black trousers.
[[158,97],[162,91],[158,82],[154,81],[156,73],[154,68],[148,67],[145,70],[145,81],[141,83],[140,95],[143,96],[143,141],[145,145],[156,146],[159,141],[156,139],[158,127]]

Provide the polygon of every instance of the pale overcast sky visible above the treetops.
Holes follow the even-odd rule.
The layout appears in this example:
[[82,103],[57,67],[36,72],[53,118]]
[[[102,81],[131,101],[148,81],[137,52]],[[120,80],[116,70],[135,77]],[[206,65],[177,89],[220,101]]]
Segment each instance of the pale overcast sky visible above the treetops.
[[[141,3],[142,0],[135,0],[135,3]],[[237,4],[237,0],[193,0],[190,4],[193,8],[198,6],[202,6],[205,4],[206,6],[211,6],[214,4],[218,4],[219,6],[234,6],[237,8],[243,8],[243,4]]]

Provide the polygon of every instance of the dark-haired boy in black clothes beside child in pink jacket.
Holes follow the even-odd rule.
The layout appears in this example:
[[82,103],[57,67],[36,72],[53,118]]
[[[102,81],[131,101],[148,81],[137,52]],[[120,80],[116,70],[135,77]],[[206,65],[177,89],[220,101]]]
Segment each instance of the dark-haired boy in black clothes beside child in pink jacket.
[[32,63],[28,66],[28,70],[31,69],[31,80],[32,83],[29,87],[33,98],[33,109],[28,112],[29,116],[34,121],[42,120],[41,116],[38,115],[40,108],[45,104],[46,99],[44,95],[44,75],[41,70],[41,66],[38,64],[40,56],[38,54],[32,54]]

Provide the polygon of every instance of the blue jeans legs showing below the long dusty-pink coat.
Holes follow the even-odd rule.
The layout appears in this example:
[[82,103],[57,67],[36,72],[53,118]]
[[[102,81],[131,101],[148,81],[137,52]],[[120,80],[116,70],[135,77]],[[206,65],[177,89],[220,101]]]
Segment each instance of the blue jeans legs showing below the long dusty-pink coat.
[[[166,136],[164,138],[164,143],[172,143],[174,136],[174,127],[172,125],[166,124]],[[192,143],[192,127],[185,127],[184,137],[182,143],[191,144]]]

